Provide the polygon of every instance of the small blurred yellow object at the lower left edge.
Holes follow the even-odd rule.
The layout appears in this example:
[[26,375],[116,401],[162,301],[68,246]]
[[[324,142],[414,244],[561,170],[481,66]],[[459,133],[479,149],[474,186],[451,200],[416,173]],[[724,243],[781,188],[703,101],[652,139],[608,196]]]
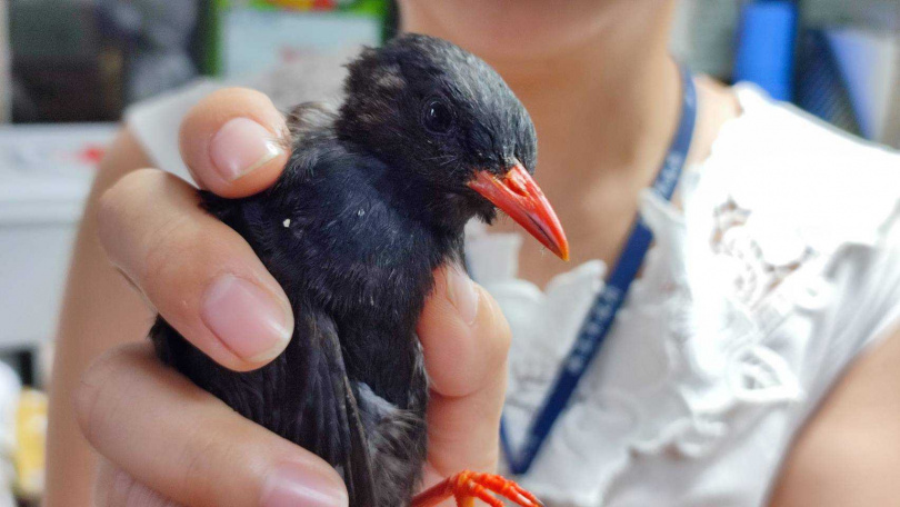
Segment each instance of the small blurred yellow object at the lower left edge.
[[47,395],[23,389],[16,412],[16,489],[24,498],[43,494],[47,460]]

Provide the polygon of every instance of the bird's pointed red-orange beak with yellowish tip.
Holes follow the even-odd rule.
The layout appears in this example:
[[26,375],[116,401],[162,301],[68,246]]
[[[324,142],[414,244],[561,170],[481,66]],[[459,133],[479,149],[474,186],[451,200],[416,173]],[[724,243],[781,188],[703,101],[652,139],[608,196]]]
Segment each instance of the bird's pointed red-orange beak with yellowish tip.
[[569,260],[569,241],[557,213],[520,162],[502,177],[487,170],[477,171],[468,185],[519,222],[560,259]]

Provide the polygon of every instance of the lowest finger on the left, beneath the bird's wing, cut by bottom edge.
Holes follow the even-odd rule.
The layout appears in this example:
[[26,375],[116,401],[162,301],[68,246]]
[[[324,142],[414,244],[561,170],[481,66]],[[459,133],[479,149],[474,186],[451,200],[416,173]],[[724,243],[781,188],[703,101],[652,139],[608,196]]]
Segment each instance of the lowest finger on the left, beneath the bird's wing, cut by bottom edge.
[[348,505],[343,481],[327,463],[161,366],[149,344],[118,349],[91,367],[76,411],[107,460],[178,504]]

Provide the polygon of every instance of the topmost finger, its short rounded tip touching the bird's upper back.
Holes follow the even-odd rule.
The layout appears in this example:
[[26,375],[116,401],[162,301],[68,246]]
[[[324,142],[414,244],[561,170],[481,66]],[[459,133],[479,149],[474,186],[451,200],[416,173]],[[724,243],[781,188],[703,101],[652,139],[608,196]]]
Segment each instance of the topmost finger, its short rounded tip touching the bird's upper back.
[[197,182],[222,197],[270,187],[288,161],[284,117],[266,95],[246,88],[211,93],[181,123],[181,157]]

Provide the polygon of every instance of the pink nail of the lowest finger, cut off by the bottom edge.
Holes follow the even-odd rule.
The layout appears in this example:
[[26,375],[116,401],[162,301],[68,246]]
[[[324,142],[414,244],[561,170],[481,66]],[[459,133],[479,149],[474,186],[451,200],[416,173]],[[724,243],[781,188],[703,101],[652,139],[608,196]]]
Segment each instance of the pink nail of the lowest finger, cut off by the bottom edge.
[[347,507],[347,489],[333,477],[299,464],[277,468],[262,488],[262,507]]

